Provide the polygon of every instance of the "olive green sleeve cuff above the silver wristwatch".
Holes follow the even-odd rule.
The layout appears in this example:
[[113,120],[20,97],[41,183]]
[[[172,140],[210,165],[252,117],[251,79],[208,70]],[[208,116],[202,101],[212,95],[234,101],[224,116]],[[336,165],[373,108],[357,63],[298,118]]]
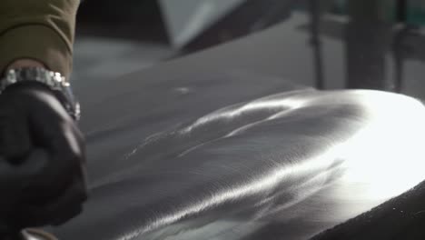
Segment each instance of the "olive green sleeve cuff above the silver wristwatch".
[[80,0],[0,0],[0,72],[19,58],[69,76]]

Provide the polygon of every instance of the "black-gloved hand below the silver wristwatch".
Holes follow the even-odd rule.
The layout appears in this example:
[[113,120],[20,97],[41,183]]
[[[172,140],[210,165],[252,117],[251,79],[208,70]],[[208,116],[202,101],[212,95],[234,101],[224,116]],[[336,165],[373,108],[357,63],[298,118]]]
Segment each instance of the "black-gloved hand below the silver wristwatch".
[[84,137],[49,88],[20,83],[0,95],[0,156],[0,233],[81,212]]

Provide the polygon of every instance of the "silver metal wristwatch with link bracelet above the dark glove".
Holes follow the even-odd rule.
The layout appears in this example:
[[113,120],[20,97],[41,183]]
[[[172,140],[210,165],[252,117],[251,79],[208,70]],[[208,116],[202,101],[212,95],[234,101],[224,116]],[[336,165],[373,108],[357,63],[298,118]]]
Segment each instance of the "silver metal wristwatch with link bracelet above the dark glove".
[[75,121],[80,119],[80,105],[75,99],[71,85],[60,73],[49,71],[43,67],[23,67],[10,69],[5,72],[0,80],[0,94],[7,87],[25,81],[35,81],[50,88],[59,102],[64,105],[64,109]]

